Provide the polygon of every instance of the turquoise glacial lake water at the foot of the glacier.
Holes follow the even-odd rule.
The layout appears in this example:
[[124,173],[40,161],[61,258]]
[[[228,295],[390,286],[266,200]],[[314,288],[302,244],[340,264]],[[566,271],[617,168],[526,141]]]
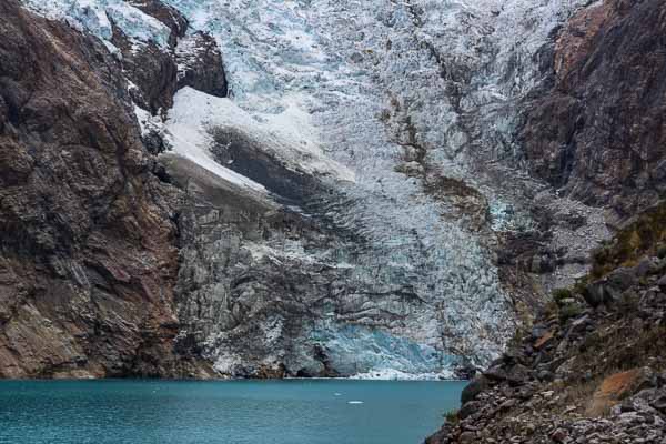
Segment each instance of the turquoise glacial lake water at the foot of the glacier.
[[463,382],[0,381],[0,443],[416,444]]

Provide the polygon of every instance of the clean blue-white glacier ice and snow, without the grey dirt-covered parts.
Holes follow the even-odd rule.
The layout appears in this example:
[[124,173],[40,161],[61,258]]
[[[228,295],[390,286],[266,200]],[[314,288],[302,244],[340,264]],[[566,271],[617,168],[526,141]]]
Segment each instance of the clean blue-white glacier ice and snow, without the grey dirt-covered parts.
[[[26,1],[101,39],[110,37],[109,18],[139,41],[163,44],[168,38],[161,23],[121,0]],[[370,245],[351,261],[347,279],[374,282],[379,293],[410,287],[423,301],[402,327],[322,322],[313,340],[326,344],[340,367],[355,362],[349,373],[363,375],[450,376],[456,356],[477,365],[496,357],[515,313],[492,260],[493,234],[470,230],[454,209],[424,192],[421,179],[396,167],[412,133],[435,171],[484,193],[493,230],[529,224],[519,196],[478,173],[476,163],[519,158],[506,142],[515,104],[539,81],[535,63],[525,60],[534,60],[584,0],[167,2],[194,30],[214,36],[230,84],[230,99],[191,89],[176,94],[165,122],[174,152],[262,190],[208,152],[210,128],[232,125],[265,139],[285,161],[330,174],[347,200],[323,202],[326,215]],[[297,245],[253,249],[258,260],[330,259]],[[354,295],[345,303],[354,305]],[[386,300],[377,303],[393,309]],[[235,364],[219,351],[219,369]]]

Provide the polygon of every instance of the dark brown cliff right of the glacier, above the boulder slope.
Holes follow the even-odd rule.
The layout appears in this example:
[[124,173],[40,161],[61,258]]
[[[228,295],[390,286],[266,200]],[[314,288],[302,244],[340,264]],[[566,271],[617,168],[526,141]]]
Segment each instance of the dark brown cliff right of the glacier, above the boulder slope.
[[557,38],[553,83],[527,104],[532,171],[627,215],[666,186],[666,4],[605,1]]

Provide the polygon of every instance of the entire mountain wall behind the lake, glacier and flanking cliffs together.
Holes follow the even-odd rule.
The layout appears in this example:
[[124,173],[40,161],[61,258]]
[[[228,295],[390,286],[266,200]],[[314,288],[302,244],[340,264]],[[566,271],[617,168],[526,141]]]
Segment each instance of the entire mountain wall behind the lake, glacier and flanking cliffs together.
[[659,4],[585,3],[7,2],[0,371],[487,365],[660,196]]

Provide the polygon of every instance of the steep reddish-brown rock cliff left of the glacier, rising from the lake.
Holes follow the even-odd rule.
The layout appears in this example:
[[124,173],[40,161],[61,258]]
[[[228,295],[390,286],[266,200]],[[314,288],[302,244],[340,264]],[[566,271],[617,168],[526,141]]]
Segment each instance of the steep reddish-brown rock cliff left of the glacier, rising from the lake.
[[109,51],[0,3],[0,376],[176,376],[174,189]]

